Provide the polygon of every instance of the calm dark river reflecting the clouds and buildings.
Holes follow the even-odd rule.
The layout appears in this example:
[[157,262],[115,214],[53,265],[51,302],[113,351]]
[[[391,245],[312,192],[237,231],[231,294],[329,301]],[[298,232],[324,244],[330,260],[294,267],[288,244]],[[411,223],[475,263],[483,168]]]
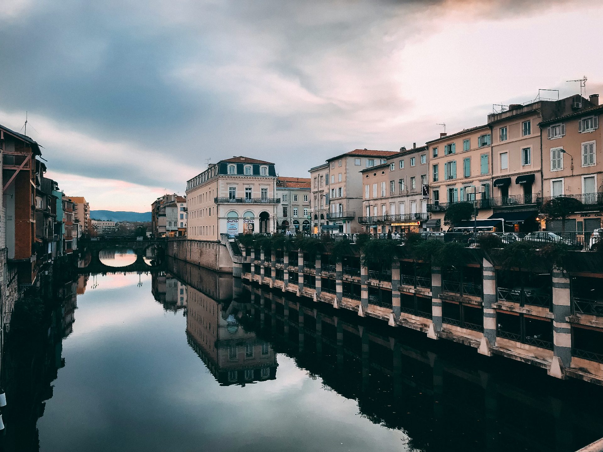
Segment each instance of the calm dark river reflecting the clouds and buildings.
[[569,452],[603,436],[597,386],[197,266],[71,287],[33,358],[8,354],[3,450]]

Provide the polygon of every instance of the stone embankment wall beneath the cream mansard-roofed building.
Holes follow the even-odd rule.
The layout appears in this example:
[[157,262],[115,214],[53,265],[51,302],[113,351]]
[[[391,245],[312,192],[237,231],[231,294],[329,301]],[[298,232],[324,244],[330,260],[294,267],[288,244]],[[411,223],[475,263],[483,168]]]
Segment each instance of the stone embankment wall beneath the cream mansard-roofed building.
[[166,254],[213,271],[232,274],[232,258],[226,245],[221,242],[169,239]]

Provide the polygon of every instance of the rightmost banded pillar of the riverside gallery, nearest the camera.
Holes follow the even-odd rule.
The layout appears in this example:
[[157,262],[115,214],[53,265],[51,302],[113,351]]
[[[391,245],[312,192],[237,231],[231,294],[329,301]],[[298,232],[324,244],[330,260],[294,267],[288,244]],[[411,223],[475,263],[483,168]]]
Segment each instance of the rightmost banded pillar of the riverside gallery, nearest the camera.
[[572,315],[569,276],[563,269],[553,269],[553,362],[550,375],[563,378],[563,368],[572,362],[572,330],[567,317]]

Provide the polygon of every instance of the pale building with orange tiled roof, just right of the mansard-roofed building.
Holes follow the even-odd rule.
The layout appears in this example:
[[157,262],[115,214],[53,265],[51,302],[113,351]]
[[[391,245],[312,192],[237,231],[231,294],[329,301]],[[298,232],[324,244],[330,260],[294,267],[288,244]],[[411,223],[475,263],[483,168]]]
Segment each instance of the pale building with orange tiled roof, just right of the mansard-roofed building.
[[277,230],[286,232],[310,232],[311,193],[310,179],[303,177],[279,177],[276,180]]

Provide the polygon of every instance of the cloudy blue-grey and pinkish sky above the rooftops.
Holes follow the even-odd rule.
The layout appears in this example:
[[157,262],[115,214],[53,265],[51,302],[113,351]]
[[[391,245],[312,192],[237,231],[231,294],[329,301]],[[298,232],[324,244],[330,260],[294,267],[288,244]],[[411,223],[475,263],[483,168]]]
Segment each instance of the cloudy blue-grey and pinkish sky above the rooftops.
[[147,212],[207,159],[309,177],[567,80],[603,95],[602,23],[575,0],[3,0],[0,124],[27,111],[47,176],[92,210]]

